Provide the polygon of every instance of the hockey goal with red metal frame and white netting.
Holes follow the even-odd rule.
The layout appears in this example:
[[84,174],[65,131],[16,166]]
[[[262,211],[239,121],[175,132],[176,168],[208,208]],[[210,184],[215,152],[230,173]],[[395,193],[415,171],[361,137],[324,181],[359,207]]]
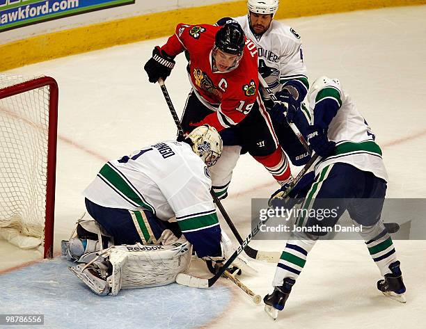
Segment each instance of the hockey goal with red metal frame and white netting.
[[58,86],[0,74],[0,239],[52,257]]

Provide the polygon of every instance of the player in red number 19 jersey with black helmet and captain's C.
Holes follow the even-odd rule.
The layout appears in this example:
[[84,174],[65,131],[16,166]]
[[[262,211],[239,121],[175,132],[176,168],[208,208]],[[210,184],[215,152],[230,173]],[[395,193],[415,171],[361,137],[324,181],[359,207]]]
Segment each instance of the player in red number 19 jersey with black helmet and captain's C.
[[[239,24],[178,24],[166,45],[155,47],[145,64],[150,82],[166,79],[174,58],[185,51],[192,86],[182,116],[184,131],[212,125],[223,138],[223,155],[210,170],[219,198],[226,196],[241,151],[262,163],[278,182],[291,177],[259,94],[258,54]],[[237,156],[238,155],[238,156]]]

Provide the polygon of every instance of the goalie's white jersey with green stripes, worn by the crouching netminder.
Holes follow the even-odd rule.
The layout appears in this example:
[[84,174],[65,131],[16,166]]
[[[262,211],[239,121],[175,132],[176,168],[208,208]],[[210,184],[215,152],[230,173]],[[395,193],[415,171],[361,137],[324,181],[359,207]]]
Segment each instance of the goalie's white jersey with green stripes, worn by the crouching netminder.
[[106,163],[84,196],[103,207],[176,217],[182,232],[219,225],[203,160],[187,143],[165,141]]

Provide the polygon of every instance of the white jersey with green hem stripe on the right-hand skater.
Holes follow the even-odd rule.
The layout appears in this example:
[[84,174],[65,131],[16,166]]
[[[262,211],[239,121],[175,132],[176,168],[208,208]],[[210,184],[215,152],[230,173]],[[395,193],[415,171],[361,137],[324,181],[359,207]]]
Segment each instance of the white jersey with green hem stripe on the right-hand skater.
[[324,99],[333,99],[339,106],[327,133],[329,140],[336,142],[336,150],[317,163],[315,174],[331,163],[343,162],[360,170],[372,172],[376,177],[387,181],[388,175],[381,157],[381,149],[374,141],[374,134],[356,109],[352,98],[342,90],[338,81],[325,78],[322,79],[321,86],[315,85],[317,83],[314,83],[306,97],[310,111],[314,113],[313,124],[315,124],[316,104]]

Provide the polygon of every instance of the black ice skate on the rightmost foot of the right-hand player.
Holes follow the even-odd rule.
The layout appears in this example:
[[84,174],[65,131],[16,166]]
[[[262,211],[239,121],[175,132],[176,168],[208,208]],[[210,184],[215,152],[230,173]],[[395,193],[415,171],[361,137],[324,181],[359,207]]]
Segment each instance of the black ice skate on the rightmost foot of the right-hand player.
[[407,299],[404,296],[406,288],[402,280],[400,262],[393,262],[389,265],[389,269],[392,273],[385,274],[383,280],[377,281],[377,289],[389,298],[395,299],[400,303],[406,303]]

